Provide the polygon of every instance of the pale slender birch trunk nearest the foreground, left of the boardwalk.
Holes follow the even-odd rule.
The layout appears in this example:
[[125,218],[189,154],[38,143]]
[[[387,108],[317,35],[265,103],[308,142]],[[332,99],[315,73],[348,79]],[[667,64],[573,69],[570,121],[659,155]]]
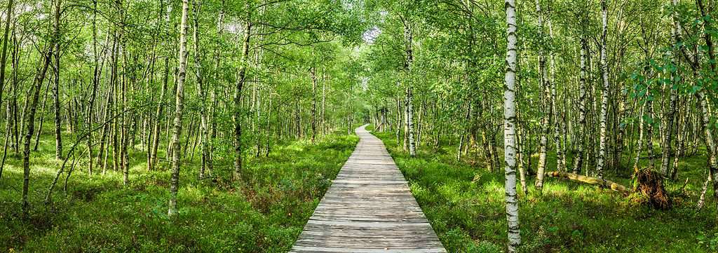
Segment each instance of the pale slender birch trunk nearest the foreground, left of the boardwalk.
[[187,11],[190,6],[182,0],[182,21],[180,24],[180,70],[177,72],[177,97],[174,107],[174,132],[172,133],[172,183],[169,187],[168,216],[177,214],[177,188],[180,183],[180,137],[182,135],[182,110],[185,102],[185,75],[187,75]]

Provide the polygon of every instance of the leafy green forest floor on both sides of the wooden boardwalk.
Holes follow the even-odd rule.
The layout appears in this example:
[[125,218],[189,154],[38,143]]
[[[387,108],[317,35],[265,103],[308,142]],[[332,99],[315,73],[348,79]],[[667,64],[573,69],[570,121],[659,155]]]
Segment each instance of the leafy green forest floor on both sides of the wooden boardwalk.
[[[218,183],[197,179],[195,156],[182,166],[180,214],[168,219],[167,164],[146,171],[140,145],[131,153],[128,187],[116,171],[88,178],[80,169],[83,161],[67,194],[60,181],[54,203],[44,206],[59,163],[52,131],[44,133],[31,160],[27,221],[19,219],[19,156],[9,153],[0,179],[0,252],[286,252],[358,141],[337,131],[316,144],[300,140],[275,145],[268,158],[247,158],[242,183],[228,182],[230,164],[217,164]],[[420,146],[417,157],[409,158],[393,133],[374,134],[387,146],[449,252],[502,251],[503,168],[492,173],[456,161],[456,147],[450,145],[436,151]],[[70,140],[65,138],[66,146]],[[230,157],[229,152],[218,151],[218,160],[230,161],[221,158]],[[528,181],[528,196],[519,194],[523,252],[716,252],[712,190],[706,207],[696,211],[705,163],[704,156],[681,159],[679,180],[666,185],[674,203],[668,211],[653,209],[636,194],[623,196],[556,178],[548,178],[544,193],[538,194],[533,180]],[[549,160],[551,164],[555,161]],[[631,185],[629,176],[609,173],[607,178]]]

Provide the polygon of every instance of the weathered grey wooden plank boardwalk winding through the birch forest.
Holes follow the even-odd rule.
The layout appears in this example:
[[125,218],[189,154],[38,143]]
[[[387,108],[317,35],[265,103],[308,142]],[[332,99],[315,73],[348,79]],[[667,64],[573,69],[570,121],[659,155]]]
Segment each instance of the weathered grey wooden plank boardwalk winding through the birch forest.
[[364,128],[292,252],[446,252],[383,143]]

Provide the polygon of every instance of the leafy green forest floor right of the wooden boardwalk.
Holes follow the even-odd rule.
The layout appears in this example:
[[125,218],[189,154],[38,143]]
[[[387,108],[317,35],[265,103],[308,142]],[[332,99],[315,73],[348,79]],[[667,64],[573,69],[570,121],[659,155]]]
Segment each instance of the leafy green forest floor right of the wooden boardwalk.
[[[374,134],[404,173],[449,252],[503,250],[507,230],[503,167],[491,173],[483,166],[457,161],[456,146],[436,151],[420,146],[416,158],[409,158],[393,133]],[[549,168],[555,166],[551,155]],[[528,196],[519,194],[521,252],[717,252],[712,190],[706,207],[696,211],[706,178],[705,159],[681,158],[679,180],[666,185],[674,204],[668,211],[653,209],[637,194],[623,196],[556,178],[547,178],[544,193],[538,194],[531,177]],[[570,159],[567,163],[572,164]],[[631,186],[630,176],[609,173],[606,178]],[[689,182],[681,191],[686,178]]]

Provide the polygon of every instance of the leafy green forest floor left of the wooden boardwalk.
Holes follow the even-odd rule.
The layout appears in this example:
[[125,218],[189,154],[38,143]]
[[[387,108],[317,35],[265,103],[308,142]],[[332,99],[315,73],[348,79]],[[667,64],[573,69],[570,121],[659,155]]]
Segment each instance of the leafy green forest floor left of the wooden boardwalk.
[[[269,157],[246,158],[241,183],[228,182],[230,163],[215,165],[218,183],[198,179],[195,156],[182,164],[180,213],[168,219],[168,165],[146,171],[140,145],[131,152],[129,186],[111,170],[88,178],[82,161],[67,194],[60,181],[54,203],[43,205],[60,163],[52,130],[44,133],[30,161],[27,221],[19,218],[20,156],[9,154],[0,179],[0,252],[287,252],[358,142],[342,130],[315,144],[274,145]],[[231,161],[230,151],[215,156]]]

